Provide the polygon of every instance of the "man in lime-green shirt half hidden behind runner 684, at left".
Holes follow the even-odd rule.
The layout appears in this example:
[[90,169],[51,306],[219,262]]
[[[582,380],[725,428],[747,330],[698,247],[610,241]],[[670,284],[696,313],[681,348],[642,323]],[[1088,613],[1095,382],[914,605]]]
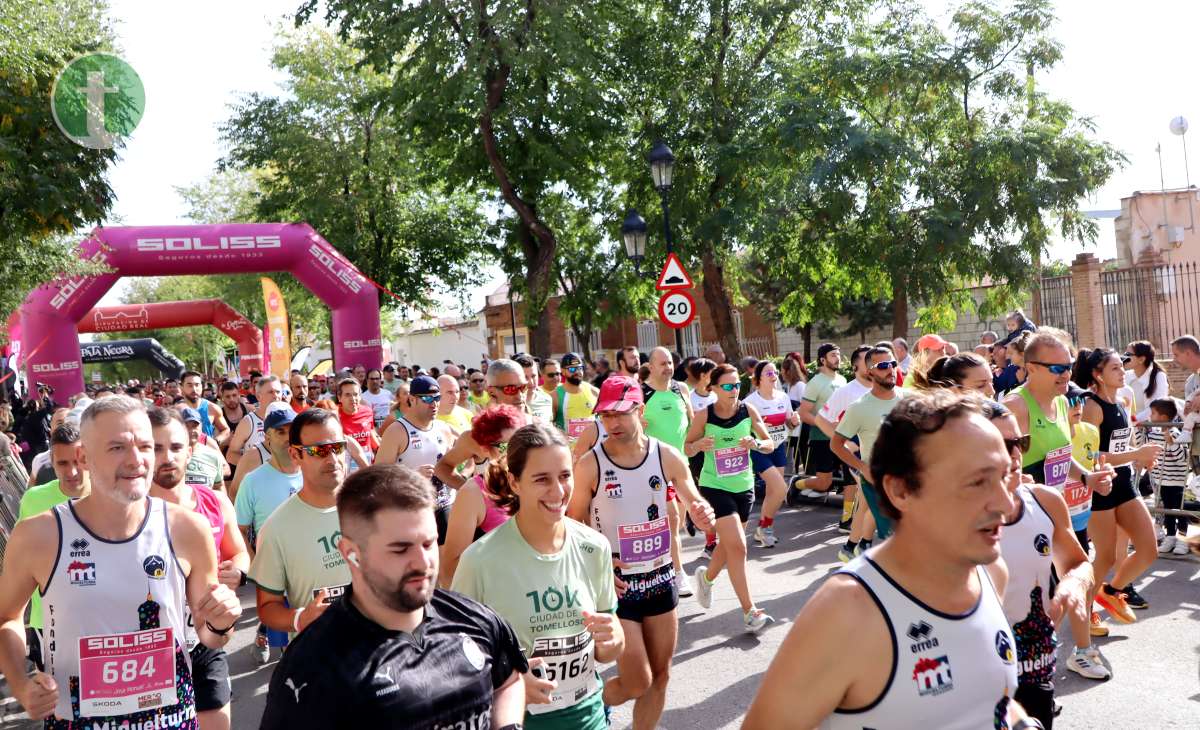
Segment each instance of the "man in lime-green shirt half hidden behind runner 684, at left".
[[[20,508],[17,520],[50,511],[55,505],[67,499],[86,497],[91,491],[88,469],[79,463],[79,429],[70,423],[62,424],[50,432],[50,467],[55,479],[38,486],[31,486],[20,496]],[[37,669],[44,671],[42,636],[42,596],[34,591],[29,599],[29,624],[25,632],[29,642],[29,658]]]

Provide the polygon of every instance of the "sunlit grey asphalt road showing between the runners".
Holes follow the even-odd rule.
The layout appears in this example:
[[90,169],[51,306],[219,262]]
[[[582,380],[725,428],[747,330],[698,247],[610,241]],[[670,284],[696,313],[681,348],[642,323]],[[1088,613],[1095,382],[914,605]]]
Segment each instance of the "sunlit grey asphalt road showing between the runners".
[[[679,647],[672,670],[661,726],[670,730],[738,728],[750,701],[784,640],[791,618],[821,581],[835,570],[833,509],[802,507],[780,513],[779,546],[750,549],[750,587],[758,605],[776,618],[757,636],[746,635],[727,579],[716,585],[713,608],[703,611],[694,599],[679,606]],[[684,560],[701,560],[701,538],[684,538]],[[1114,670],[1109,682],[1084,680],[1066,670],[1069,636],[1062,636],[1055,682],[1063,706],[1060,729],[1200,728],[1200,561],[1159,558],[1139,584],[1151,608],[1138,623],[1112,624],[1098,639]],[[233,726],[258,726],[266,684],[275,663],[258,666],[252,654],[253,594],[244,592],[244,615],[229,647],[233,672]],[[1069,629],[1066,629],[1069,632]],[[847,660],[852,660],[847,658]],[[607,671],[612,671],[610,668]],[[797,681],[797,692],[803,682]],[[630,726],[630,706],[613,710],[613,728]],[[30,726],[14,718],[0,726]]]

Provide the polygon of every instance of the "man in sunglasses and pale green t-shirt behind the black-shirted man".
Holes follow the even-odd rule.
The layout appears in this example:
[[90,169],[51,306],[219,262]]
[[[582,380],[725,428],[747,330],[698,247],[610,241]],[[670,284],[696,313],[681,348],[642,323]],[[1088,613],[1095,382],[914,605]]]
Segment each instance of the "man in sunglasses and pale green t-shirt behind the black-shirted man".
[[289,443],[304,484],[258,533],[250,579],[257,586],[258,620],[294,639],[350,582],[337,551],[341,531],[334,498],[346,477],[342,454],[348,439],[335,414],[310,408],[292,421]]

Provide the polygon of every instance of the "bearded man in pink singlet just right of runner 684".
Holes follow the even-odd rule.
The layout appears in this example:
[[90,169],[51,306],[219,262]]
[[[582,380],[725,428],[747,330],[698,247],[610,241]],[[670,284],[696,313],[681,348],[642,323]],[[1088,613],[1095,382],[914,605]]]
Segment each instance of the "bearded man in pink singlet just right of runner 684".
[[[155,467],[150,496],[178,504],[204,517],[212,531],[217,554],[217,580],[236,591],[246,584],[250,552],[236,527],[233,504],[223,493],[202,484],[188,484],[185,474],[192,447],[179,412],[151,408],[148,412],[154,433]],[[187,647],[192,658],[192,683],[196,687],[196,712],[202,730],[227,730],[230,725],[229,660],[224,650],[199,642],[187,614]]]

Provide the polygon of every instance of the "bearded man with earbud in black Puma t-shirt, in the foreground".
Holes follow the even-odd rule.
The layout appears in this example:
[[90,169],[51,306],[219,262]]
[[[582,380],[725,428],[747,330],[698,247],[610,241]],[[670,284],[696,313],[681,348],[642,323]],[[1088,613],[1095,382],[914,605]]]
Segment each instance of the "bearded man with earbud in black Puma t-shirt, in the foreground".
[[346,480],[336,510],[350,586],[283,654],[262,728],[521,726],[528,664],[512,629],[436,588],[433,499],[396,465]]

